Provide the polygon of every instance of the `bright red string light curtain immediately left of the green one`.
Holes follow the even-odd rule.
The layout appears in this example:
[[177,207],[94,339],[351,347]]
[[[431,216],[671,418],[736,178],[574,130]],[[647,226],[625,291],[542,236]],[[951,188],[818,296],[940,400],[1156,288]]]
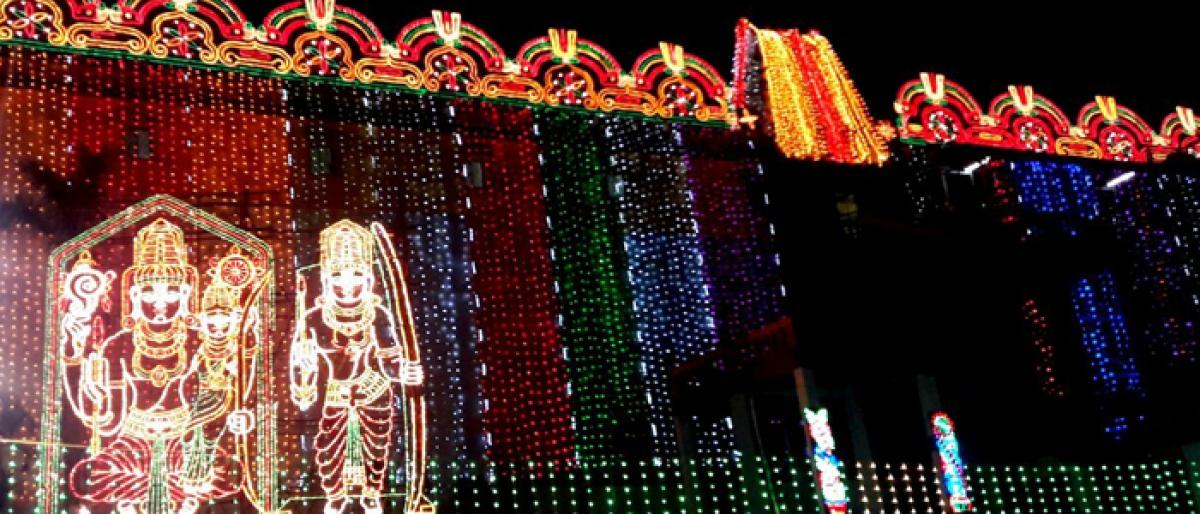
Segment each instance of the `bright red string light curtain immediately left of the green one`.
[[479,102],[452,107],[467,175],[488,456],[569,465],[575,442],[533,114]]

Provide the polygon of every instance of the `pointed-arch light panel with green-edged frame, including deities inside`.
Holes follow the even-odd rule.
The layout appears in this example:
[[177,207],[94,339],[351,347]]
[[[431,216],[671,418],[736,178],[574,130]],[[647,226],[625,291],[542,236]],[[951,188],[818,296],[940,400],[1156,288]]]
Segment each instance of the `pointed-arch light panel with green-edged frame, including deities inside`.
[[[42,470],[64,462],[72,497],[121,514],[192,514],[239,491],[271,510],[272,264],[262,240],[168,196],[59,246]],[[58,512],[58,477],[43,473],[42,512]]]

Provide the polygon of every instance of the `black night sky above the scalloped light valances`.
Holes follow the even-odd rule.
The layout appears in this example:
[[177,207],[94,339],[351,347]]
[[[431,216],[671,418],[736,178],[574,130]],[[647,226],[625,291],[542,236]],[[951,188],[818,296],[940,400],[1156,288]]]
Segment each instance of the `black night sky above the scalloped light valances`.
[[[277,4],[234,0],[258,22]],[[1093,95],[1111,95],[1154,127],[1176,104],[1200,110],[1189,62],[1196,42],[1187,13],[1064,6],[1056,2],[502,2],[340,0],[366,13],[386,37],[430,10],[454,10],[508,53],[570,28],[630,66],[659,41],[683,44],[728,77],[733,26],[748,17],[763,28],[823,32],[839,52],[874,115],[892,119],[899,86],[922,71],[940,71],[976,95],[984,108],[1012,83],[1026,83],[1074,120]],[[1022,10],[1024,6],[1024,10]]]

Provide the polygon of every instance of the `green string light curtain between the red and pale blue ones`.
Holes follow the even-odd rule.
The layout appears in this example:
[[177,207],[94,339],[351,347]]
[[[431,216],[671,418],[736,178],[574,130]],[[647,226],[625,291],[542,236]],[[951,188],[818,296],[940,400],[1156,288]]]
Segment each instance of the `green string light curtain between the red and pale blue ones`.
[[646,456],[649,395],[614,195],[620,185],[601,151],[604,124],[540,110],[535,127],[580,458]]

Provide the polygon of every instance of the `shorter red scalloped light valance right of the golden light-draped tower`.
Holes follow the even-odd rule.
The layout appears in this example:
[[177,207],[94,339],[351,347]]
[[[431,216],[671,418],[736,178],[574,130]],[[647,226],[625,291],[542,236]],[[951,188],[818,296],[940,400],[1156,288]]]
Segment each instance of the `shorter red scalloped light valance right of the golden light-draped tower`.
[[1110,96],[1084,106],[1074,124],[1028,85],[1009,85],[988,110],[941,73],[922,73],[895,101],[901,139],[974,144],[1042,154],[1128,162],[1160,162],[1175,153],[1200,155],[1190,108],[1177,107],[1154,132]]

